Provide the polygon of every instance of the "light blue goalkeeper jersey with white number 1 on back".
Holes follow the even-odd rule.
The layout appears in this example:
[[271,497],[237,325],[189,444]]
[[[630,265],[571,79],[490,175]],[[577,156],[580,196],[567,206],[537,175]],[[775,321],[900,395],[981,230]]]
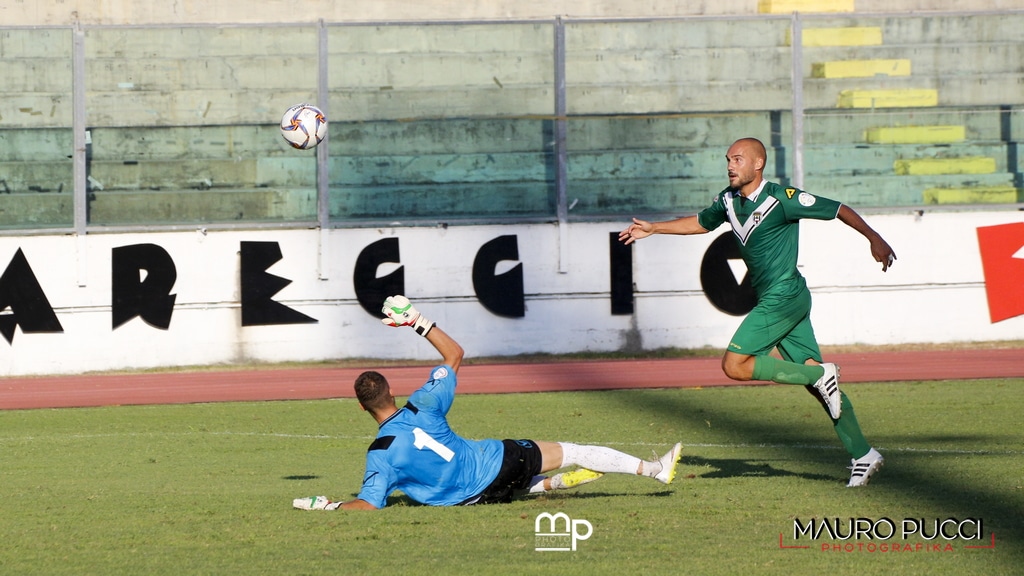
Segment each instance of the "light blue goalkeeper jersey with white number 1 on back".
[[400,490],[433,506],[464,502],[494,482],[505,449],[498,440],[466,440],[452,431],[447,411],[455,401],[456,373],[437,366],[409,403],[380,424],[367,452],[358,498],[378,508]]

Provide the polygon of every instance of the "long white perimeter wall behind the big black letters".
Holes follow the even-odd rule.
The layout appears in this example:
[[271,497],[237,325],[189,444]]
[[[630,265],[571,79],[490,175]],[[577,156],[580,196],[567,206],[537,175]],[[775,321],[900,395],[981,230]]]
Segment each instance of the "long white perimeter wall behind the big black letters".
[[[802,271],[814,293],[822,344],[886,344],[1024,339],[1024,317],[989,320],[976,229],[1020,222],[1016,211],[872,215],[899,260],[886,274],[866,241],[839,221],[804,222]],[[625,225],[625,222],[623,223]],[[356,302],[358,253],[399,239],[408,295],[471,356],[724,347],[739,318],[715,308],[699,283],[700,260],[726,229],[699,237],[652,237],[634,249],[636,313],[612,316],[608,234],[615,223],[571,224],[566,273],[559,273],[554,224],[449,229],[336,230],[326,235],[319,273],[317,231],[231,231],[0,238],[4,269],[25,252],[63,333],[15,331],[0,339],[0,374],[50,374],[248,361],[434,357],[424,340],[382,326]],[[485,242],[518,237],[524,318],[497,317],[475,298],[474,256]],[[275,300],[316,324],[241,325],[239,246],[278,242],[283,260],[268,272],[292,280]],[[177,268],[170,328],[140,319],[112,329],[111,251],[153,243]],[[385,270],[386,269],[386,270]],[[378,276],[394,270],[382,266]],[[505,269],[499,268],[497,273]],[[326,278],[321,278],[326,276]],[[81,284],[81,285],[80,285]],[[9,314],[9,311],[4,311]]]

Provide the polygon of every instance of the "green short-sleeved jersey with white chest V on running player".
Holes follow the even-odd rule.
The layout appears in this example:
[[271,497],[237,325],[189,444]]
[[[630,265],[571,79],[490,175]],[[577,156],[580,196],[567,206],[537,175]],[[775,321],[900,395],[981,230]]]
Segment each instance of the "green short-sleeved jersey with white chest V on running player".
[[841,206],[835,200],[764,180],[750,198],[731,189],[722,191],[697,214],[697,221],[709,232],[729,222],[758,297],[786,296],[805,286],[797,270],[800,220],[830,220]]

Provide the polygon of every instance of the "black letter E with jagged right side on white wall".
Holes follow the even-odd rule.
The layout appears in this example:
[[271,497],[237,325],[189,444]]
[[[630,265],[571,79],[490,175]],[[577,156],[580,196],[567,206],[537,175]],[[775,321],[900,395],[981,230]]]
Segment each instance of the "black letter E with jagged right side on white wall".
[[292,283],[266,270],[282,258],[276,242],[242,242],[242,325],[315,324],[316,319],[275,301],[272,296]]

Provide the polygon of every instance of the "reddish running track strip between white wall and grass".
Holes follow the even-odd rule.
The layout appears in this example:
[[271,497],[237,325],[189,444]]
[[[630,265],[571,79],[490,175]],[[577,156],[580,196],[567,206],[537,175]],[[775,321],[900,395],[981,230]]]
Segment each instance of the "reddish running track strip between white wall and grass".
[[[1024,378],[1024,348],[835,354],[842,382]],[[377,369],[396,396],[426,379],[429,366]],[[0,380],[0,409],[70,408],[351,398],[364,368],[296,368],[18,377]],[[765,384],[734,382],[717,358],[551,364],[464,365],[461,394],[669,388]]]

